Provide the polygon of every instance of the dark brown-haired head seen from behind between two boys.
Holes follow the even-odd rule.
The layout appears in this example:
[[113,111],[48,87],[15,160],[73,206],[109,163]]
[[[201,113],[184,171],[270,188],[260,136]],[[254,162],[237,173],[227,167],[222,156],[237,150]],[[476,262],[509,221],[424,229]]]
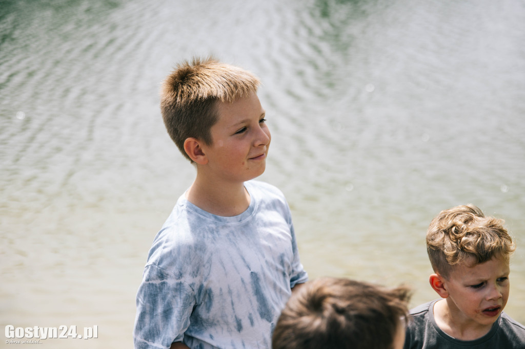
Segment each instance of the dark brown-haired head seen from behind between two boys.
[[339,278],[308,281],[282,311],[273,349],[402,349],[408,289]]

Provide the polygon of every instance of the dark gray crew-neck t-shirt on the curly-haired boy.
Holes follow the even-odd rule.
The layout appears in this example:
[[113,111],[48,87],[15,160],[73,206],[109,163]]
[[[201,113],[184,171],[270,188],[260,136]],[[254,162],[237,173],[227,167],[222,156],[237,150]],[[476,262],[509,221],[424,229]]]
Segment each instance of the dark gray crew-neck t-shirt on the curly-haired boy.
[[421,304],[410,311],[404,349],[525,349],[525,326],[501,313],[492,329],[474,341],[460,341],[443,332],[434,319],[434,304]]

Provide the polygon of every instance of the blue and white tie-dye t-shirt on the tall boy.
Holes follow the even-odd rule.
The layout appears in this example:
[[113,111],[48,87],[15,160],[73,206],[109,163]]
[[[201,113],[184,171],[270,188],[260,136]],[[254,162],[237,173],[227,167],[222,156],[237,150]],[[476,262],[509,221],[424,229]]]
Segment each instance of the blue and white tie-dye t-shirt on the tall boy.
[[233,217],[178,199],[144,269],[135,348],[271,347],[290,288],[308,275],[283,194],[253,180],[245,188],[250,205]]

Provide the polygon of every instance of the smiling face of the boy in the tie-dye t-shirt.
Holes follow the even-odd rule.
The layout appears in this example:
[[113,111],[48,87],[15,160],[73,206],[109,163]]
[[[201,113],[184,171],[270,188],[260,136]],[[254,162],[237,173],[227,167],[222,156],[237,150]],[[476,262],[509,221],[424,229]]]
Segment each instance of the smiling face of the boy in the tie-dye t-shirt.
[[218,120],[211,128],[212,144],[204,145],[208,168],[226,181],[244,182],[266,167],[270,130],[257,94],[233,103],[217,103]]

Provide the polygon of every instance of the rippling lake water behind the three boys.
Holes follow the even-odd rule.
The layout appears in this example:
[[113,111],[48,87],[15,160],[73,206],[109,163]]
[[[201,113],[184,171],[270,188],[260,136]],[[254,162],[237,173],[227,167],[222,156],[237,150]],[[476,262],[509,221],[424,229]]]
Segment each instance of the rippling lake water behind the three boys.
[[516,238],[506,311],[525,323],[524,23],[512,0],[3,1],[0,327],[132,346],[148,248],[194,176],[160,82],[208,54],[264,82],[260,179],[285,192],[312,278],[434,299],[426,228],[471,202]]

